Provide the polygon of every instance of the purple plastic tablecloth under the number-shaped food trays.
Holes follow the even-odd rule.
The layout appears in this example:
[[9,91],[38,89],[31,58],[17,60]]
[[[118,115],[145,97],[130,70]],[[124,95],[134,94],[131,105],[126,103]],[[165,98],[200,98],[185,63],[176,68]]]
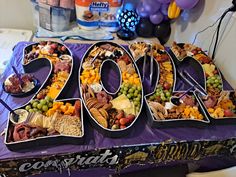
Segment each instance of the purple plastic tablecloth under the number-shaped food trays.
[[[29,43],[21,42],[16,45],[14,48],[14,53],[10,61],[10,65],[14,65],[18,68],[18,70],[23,71],[21,66],[21,60],[23,57],[23,48]],[[85,53],[86,49],[89,45],[81,45],[81,44],[67,44],[67,46],[71,49],[74,56],[74,72],[72,78],[70,80],[72,84],[70,91],[63,92],[61,97],[78,97],[78,68],[81,58]],[[1,82],[3,82],[6,77],[13,73],[11,66],[8,65],[3,76],[1,78]],[[43,80],[46,76],[46,72],[42,72],[39,70],[36,74],[36,77],[39,80]],[[0,89],[1,98],[5,100],[12,108],[19,107],[33,96],[28,96],[25,98],[16,98],[12,97],[5,92],[3,92],[2,88]],[[173,141],[181,141],[181,140],[224,140],[228,138],[232,138],[236,136],[236,128],[235,125],[224,125],[224,126],[206,126],[203,128],[190,128],[190,127],[182,127],[182,128],[165,128],[165,129],[157,129],[151,128],[147,124],[147,117],[144,113],[141,114],[135,126],[133,127],[132,132],[123,138],[107,138],[102,134],[97,132],[89,123],[88,117],[86,114],[84,116],[85,119],[85,142],[83,145],[61,145],[56,147],[32,147],[31,149],[25,149],[19,152],[11,152],[7,149],[4,144],[4,137],[0,137],[0,160],[6,159],[18,159],[18,158],[27,158],[27,157],[37,157],[37,156],[49,156],[53,154],[66,154],[72,152],[81,152],[87,150],[93,150],[97,148],[111,148],[114,146],[123,146],[123,145],[136,145],[136,144],[148,144],[148,143],[157,143],[163,142],[166,140],[172,139]],[[0,131],[2,132],[7,124],[7,116],[8,111],[2,105],[0,105]]]

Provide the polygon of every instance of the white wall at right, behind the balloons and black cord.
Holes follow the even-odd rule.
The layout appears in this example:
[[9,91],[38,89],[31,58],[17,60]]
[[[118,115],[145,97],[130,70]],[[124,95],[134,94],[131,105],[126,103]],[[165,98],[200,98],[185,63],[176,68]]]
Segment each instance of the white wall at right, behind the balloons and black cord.
[[[232,0],[200,0],[200,3],[188,12],[188,21],[183,17],[172,24],[172,34],[168,41],[193,42],[194,35],[205,27],[213,24],[231,6]],[[234,14],[236,15],[236,14]],[[217,50],[216,63],[224,76],[236,88],[236,18],[228,14],[221,26],[222,31],[226,27],[221,43]],[[208,50],[216,25],[198,35],[196,45]],[[213,47],[212,47],[213,49]]]

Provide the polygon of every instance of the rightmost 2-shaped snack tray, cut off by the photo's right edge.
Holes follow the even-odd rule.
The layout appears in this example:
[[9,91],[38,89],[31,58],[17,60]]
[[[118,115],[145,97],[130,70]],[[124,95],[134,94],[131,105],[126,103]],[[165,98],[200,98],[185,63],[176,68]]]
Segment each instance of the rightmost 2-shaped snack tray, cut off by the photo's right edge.
[[231,124],[236,120],[236,95],[235,91],[217,68],[216,64],[201,48],[191,44],[173,43],[171,53],[178,62],[187,56],[198,61],[205,73],[205,89],[207,96],[197,94],[197,97],[204,107],[208,117],[213,124]]

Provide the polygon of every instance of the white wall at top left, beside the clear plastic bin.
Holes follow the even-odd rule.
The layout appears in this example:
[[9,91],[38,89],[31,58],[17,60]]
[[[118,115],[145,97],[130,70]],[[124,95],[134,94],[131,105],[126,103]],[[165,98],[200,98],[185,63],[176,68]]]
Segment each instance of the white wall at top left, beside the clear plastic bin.
[[30,0],[0,0],[0,28],[34,30]]

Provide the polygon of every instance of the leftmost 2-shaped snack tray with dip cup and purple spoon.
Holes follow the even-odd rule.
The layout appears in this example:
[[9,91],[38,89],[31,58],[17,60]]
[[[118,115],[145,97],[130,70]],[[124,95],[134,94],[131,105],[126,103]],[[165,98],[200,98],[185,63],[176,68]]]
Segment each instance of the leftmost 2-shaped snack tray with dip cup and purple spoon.
[[47,76],[31,100],[14,109],[15,112],[23,110],[26,113],[19,116],[19,120],[23,121],[13,122],[13,115],[9,113],[4,140],[6,146],[17,151],[37,145],[83,143],[81,99],[57,99],[73,70],[70,50],[56,42],[34,43],[25,47],[22,65],[25,73],[37,73],[38,70],[39,74],[47,72]]

